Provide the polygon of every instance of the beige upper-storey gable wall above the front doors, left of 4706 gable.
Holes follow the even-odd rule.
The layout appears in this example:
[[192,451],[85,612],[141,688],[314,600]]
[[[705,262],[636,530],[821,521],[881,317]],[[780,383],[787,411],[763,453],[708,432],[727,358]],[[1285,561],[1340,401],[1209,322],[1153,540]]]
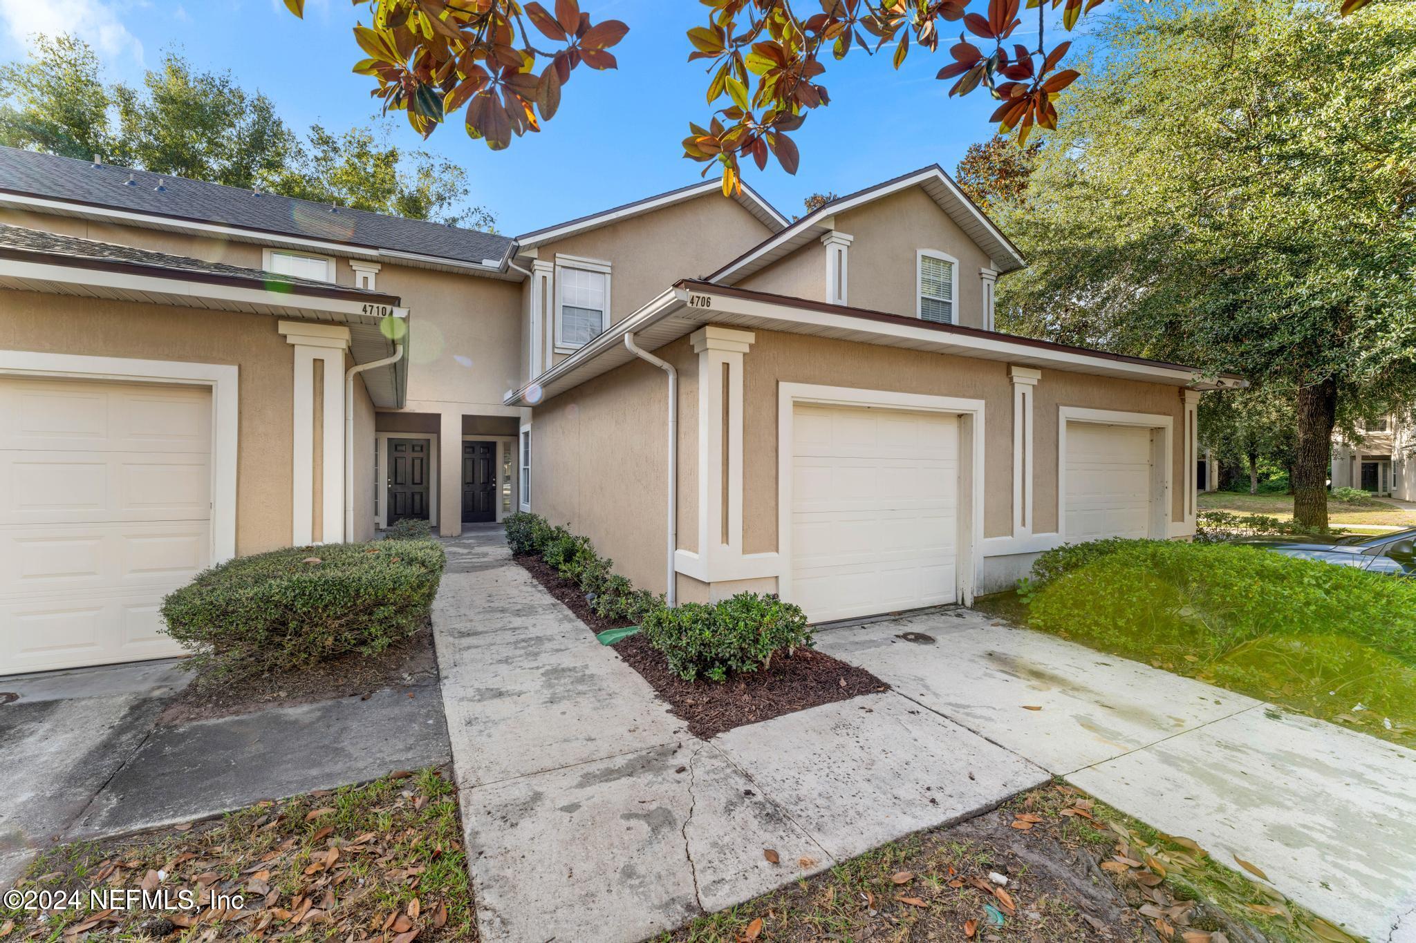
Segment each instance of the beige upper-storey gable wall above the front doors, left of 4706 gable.
[[[610,322],[620,321],[680,279],[721,269],[772,235],[735,199],[714,192],[623,222],[537,246],[537,259],[556,254],[610,263]],[[552,298],[555,287],[552,284]],[[548,305],[554,329],[555,307]],[[545,336],[545,335],[542,335]],[[555,362],[565,359],[556,355]]]

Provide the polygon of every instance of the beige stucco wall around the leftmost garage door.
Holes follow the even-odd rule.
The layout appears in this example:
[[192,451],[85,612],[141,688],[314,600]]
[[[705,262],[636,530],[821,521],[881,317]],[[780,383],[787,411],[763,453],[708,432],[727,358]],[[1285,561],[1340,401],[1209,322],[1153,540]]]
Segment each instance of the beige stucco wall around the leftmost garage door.
[[3,291],[0,336],[11,351],[238,366],[236,553],[289,546],[295,358],[276,318]]

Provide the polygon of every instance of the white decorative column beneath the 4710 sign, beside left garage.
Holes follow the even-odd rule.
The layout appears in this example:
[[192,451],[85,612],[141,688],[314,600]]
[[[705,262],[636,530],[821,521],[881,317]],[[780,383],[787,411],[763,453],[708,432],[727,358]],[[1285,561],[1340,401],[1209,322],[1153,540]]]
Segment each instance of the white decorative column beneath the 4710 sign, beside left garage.
[[295,396],[292,409],[290,543],[314,543],[314,362],[324,373],[320,383],[320,539],[344,541],[344,351],[350,329],[313,321],[280,321],[279,332],[295,346]]

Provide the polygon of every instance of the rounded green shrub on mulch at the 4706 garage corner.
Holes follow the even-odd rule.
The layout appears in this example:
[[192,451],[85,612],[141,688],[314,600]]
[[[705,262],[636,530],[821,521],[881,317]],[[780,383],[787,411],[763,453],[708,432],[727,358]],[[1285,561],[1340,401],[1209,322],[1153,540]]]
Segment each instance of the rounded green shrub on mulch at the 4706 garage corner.
[[685,681],[700,676],[724,681],[735,672],[767,669],[777,652],[790,656],[811,645],[800,608],[756,592],[739,592],[716,605],[657,608],[644,616],[641,629]]

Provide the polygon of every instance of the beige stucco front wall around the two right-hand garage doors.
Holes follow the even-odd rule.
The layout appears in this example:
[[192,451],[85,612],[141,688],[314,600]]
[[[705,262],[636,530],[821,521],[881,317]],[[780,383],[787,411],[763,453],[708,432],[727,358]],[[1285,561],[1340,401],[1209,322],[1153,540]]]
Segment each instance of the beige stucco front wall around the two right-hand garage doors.
[[[743,358],[743,553],[777,549],[777,383],[984,400],[984,537],[1012,533],[1008,365],[923,351],[758,331]],[[1034,387],[1034,533],[1056,530],[1058,407],[1171,416],[1172,519],[1184,517],[1184,400],[1174,386],[1044,370]]]

